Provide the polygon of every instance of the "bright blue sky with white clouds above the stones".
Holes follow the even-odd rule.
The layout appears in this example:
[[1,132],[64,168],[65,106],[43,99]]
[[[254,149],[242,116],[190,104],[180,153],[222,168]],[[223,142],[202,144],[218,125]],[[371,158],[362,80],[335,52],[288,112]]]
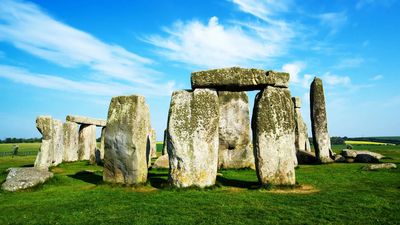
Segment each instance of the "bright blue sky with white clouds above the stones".
[[229,66],[290,72],[308,124],[321,77],[332,136],[399,135],[399,28],[395,0],[1,0],[0,138],[140,94],[161,140],[171,92]]

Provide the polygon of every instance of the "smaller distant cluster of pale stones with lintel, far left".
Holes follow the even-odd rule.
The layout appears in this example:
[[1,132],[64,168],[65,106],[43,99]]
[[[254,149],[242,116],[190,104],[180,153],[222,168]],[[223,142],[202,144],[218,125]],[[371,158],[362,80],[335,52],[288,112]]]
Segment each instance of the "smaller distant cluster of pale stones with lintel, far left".
[[51,116],[38,116],[36,127],[42,134],[42,143],[34,166],[48,169],[62,162],[77,160],[90,160],[94,163],[96,126],[103,126],[103,136],[105,125],[104,120],[83,116],[68,115],[64,123]]

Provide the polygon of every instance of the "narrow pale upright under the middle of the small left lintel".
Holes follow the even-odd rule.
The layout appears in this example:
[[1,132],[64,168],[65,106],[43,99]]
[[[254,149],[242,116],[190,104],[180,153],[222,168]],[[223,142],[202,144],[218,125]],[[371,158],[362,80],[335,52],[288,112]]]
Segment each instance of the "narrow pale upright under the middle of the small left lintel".
[[96,126],[82,124],[79,128],[79,160],[96,161]]

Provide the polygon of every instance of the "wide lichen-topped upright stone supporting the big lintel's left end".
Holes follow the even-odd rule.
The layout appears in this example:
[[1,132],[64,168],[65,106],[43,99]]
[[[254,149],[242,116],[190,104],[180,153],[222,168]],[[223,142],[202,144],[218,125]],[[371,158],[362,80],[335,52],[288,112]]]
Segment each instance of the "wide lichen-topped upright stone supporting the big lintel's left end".
[[172,94],[168,118],[169,180],[176,187],[215,184],[218,167],[219,107],[216,91]]

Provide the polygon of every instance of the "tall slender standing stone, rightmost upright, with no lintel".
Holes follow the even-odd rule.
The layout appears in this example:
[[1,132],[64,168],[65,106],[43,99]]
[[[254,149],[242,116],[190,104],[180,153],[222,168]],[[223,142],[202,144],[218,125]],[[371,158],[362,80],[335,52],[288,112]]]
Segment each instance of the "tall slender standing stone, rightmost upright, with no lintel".
[[324,87],[322,80],[317,77],[311,83],[310,108],[315,155],[320,163],[333,162],[331,140],[328,134]]

